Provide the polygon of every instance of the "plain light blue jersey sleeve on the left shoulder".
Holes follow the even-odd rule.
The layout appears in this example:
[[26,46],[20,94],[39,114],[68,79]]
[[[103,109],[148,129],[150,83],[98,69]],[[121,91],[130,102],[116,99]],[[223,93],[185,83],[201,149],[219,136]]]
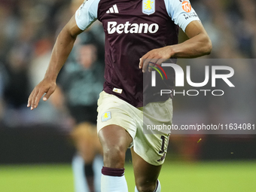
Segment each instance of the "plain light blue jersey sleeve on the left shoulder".
[[96,19],[99,0],[85,0],[75,12],[75,22],[81,30],[87,29]]

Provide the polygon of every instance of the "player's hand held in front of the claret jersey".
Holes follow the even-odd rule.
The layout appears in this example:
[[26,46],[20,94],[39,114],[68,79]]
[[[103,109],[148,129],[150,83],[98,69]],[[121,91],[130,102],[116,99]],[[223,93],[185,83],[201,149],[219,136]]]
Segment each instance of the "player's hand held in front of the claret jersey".
[[145,55],[139,59],[139,69],[142,69],[142,72],[145,72],[147,69],[148,72],[151,72],[152,68],[148,66],[154,66],[154,63],[161,65],[162,62],[166,61],[166,59],[169,59],[171,56],[171,46],[148,51],[148,53],[145,53]]

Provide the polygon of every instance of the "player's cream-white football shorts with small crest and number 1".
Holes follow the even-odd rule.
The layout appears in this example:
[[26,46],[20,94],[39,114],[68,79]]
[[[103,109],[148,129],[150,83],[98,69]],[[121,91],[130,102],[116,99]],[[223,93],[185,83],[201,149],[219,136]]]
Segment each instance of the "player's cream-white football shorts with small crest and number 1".
[[121,126],[133,138],[130,148],[133,147],[136,154],[151,165],[163,164],[170,131],[154,128],[156,125],[172,124],[172,99],[151,102],[144,108],[136,108],[117,96],[102,91],[99,94],[97,111],[98,133],[111,124]]

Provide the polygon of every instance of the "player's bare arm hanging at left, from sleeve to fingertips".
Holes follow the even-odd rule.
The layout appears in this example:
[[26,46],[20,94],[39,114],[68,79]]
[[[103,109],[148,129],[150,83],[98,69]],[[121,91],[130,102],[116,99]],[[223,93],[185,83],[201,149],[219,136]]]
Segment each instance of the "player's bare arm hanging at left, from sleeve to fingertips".
[[59,33],[53,47],[50,63],[47,72],[44,75],[44,79],[34,88],[34,90],[32,90],[32,93],[29,96],[27,106],[31,107],[31,110],[38,107],[38,102],[44,93],[46,94],[44,95],[43,100],[47,101],[56,89],[57,75],[66,62],[77,35],[81,32],[83,31],[78,28],[75,22],[75,16],[73,16],[72,19],[69,20],[69,23],[67,23]]

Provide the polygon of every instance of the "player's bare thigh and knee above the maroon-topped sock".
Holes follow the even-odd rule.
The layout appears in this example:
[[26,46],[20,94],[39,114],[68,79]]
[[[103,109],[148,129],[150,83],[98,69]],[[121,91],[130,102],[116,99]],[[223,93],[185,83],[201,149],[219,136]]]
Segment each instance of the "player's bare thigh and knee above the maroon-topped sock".
[[104,166],[123,168],[125,153],[133,142],[127,131],[117,125],[108,125],[99,130],[99,141],[103,148]]

